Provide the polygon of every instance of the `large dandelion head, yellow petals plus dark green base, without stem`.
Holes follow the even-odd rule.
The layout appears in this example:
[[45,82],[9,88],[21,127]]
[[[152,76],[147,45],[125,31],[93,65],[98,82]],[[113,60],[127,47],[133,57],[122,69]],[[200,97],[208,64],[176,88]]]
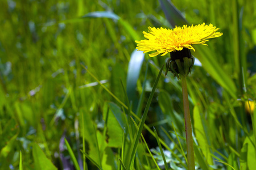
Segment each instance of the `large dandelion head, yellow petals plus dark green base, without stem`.
[[222,36],[223,33],[217,32],[218,29],[212,24],[205,25],[205,23],[189,27],[176,26],[174,29],[148,27],[148,33],[143,31],[147,40],[135,42],[137,42],[137,49],[143,53],[154,52],[149,54],[150,57],[171,53],[171,58],[166,63],[166,74],[171,71],[180,79],[179,75],[187,76],[194,65],[195,57],[191,56],[190,52],[190,49],[195,51],[192,45],[207,45],[205,44],[207,39]]

